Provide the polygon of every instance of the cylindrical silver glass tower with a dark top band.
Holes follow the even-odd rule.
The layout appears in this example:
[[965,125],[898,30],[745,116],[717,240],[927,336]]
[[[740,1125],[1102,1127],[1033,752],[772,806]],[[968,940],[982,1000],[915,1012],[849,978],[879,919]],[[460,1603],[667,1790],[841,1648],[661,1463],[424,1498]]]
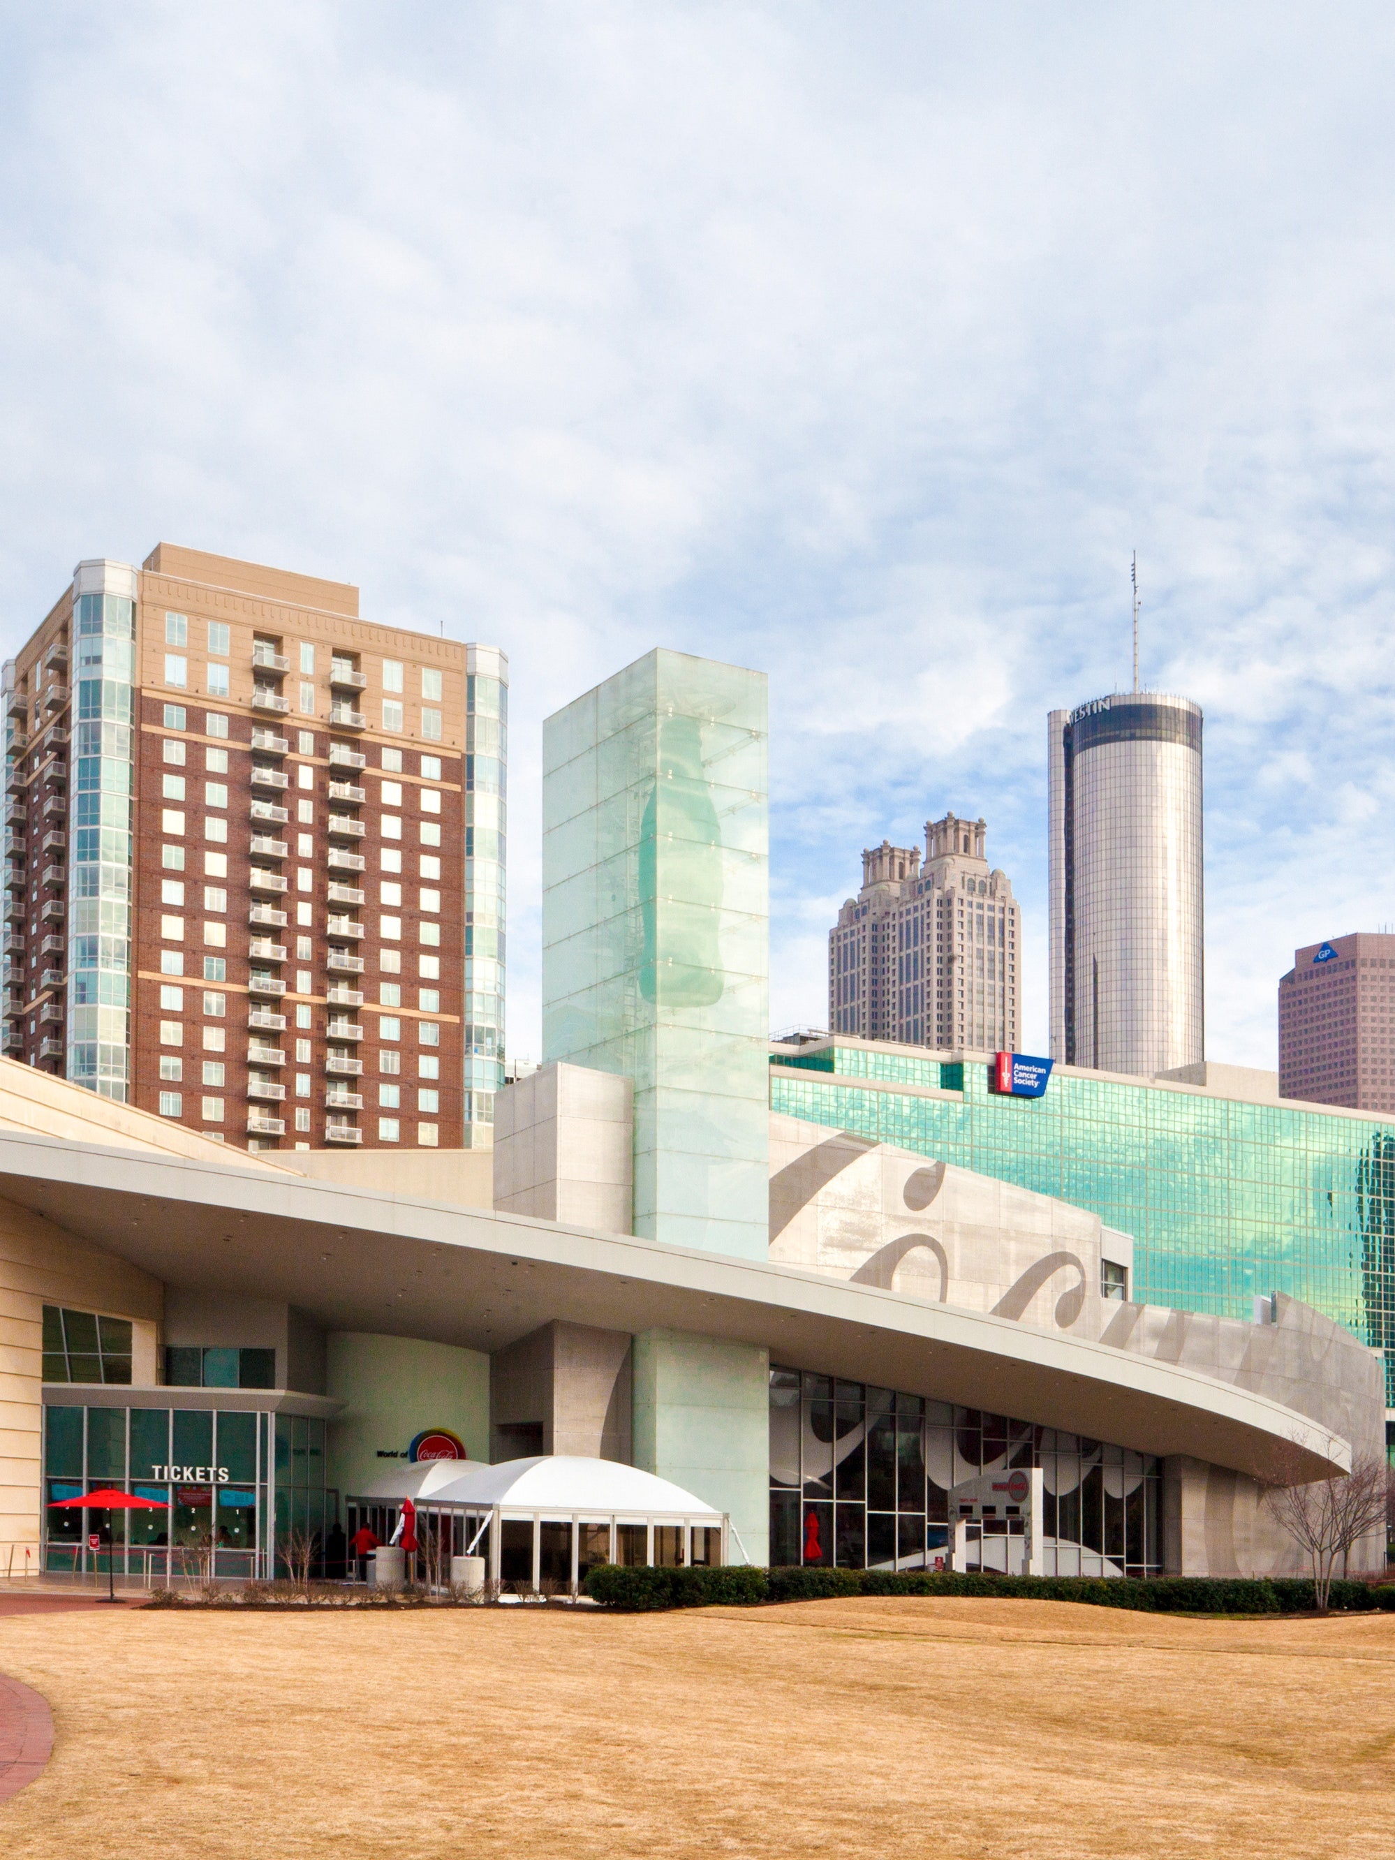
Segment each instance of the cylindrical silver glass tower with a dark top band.
[[1047,722],[1051,1056],[1151,1079],[1203,1058],[1202,711],[1116,692]]

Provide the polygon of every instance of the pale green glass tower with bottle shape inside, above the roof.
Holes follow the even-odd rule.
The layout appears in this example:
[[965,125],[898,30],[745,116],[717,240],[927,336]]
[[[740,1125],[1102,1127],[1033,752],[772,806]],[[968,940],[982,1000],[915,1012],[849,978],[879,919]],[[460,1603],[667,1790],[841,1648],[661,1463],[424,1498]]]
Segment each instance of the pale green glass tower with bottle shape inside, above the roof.
[[766,1257],[764,673],[653,651],[543,725],[543,1056],[634,1081],[634,1231]]

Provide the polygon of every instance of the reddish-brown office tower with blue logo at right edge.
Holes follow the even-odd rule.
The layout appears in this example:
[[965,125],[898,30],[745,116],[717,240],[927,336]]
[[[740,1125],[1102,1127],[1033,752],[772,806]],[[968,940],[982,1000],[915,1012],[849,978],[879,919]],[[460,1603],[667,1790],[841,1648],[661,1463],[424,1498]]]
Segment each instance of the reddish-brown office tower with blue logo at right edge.
[[1280,1097],[1395,1112],[1395,936],[1293,952],[1280,980]]

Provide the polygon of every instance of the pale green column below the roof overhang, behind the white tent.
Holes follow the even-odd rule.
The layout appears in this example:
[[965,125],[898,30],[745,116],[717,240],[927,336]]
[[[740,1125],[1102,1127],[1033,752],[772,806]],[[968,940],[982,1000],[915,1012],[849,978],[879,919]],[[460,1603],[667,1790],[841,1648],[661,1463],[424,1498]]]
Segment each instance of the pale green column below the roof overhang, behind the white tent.
[[[634,1464],[731,1514],[770,1561],[770,1352],[683,1330],[634,1339]],[[731,1546],[731,1561],[740,1551]]]

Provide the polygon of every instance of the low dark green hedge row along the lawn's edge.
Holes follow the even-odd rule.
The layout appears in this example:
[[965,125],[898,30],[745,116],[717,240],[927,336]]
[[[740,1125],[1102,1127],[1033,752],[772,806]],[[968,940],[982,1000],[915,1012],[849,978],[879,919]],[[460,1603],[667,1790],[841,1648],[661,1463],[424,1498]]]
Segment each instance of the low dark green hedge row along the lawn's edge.
[[[692,1609],[714,1601],[817,1601],[828,1596],[1010,1596],[1029,1601],[1088,1601],[1105,1609],[1168,1614],[1311,1614],[1311,1577],[1226,1575],[958,1575],[930,1570],[627,1570],[603,1564],[586,1594],[616,1609]],[[1334,1583],[1328,1607],[1395,1611],[1395,1583]]]

